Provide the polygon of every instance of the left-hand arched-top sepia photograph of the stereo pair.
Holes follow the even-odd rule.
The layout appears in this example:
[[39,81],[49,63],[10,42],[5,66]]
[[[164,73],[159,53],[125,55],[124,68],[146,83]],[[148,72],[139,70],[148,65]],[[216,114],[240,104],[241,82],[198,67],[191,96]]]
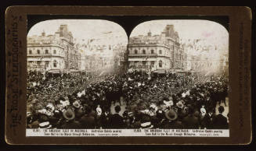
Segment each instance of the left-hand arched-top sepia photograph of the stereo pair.
[[110,128],[110,115],[126,110],[120,89],[127,46],[125,30],[107,20],[52,19],[32,26],[27,128]]

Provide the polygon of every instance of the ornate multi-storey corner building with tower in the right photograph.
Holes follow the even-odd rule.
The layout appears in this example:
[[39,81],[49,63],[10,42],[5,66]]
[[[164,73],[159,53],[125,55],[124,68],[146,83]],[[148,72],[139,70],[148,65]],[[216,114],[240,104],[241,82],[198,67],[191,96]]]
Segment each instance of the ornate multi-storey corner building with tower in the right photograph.
[[128,44],[129,71],[179,72],[184,69],[184,49],[173,25],[160,35],[131,37]]

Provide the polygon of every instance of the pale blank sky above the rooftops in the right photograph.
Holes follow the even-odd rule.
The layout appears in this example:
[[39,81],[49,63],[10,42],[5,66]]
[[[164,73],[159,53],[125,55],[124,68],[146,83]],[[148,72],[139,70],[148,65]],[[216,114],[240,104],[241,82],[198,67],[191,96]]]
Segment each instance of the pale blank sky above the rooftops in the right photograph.
[[146,35],[149,31],[154,34],[160,34],[168,24],[174,25],[175,31],[178,32],[179,38],[188,39],[205,39],[208,44],[222,45],[225,49],[229,46],[229,33],[219,23],[200,19],[166,19],[152,20],[140,23],[132,30],[131,37]]

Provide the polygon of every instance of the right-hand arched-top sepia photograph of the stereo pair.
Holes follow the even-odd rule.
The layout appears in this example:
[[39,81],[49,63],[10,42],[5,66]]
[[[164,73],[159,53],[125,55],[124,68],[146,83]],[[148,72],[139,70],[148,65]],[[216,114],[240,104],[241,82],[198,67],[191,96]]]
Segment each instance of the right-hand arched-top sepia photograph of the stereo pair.
[[200,19],[140,23],[123,90],[141,128],[229,129],[228,30]]

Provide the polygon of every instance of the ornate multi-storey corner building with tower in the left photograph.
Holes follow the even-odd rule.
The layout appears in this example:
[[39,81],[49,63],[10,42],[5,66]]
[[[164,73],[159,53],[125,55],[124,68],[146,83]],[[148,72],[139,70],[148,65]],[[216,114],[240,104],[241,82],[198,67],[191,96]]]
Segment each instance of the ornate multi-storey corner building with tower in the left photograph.
[[53,35],[27,37],[27,70],[41,72],[75,72],[81,68],[81,53],[74,47],[67,25]]

